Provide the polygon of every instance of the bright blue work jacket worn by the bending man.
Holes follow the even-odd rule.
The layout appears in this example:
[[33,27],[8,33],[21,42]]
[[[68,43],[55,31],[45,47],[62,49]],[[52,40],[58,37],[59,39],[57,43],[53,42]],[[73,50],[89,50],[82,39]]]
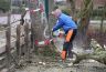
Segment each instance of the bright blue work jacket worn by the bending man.
[[65,33],[71,29],[77,29],[76,23],[72,20],[70,16],[66,16],[64,13],[61,13],[57,18],[56,24],[53,27],[53,31],[56,31],[57,29],[63,28]]

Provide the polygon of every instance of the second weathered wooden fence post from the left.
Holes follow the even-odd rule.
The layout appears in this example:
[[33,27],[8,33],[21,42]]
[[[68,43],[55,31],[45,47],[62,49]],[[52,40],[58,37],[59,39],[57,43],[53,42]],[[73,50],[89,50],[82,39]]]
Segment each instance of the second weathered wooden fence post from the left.
[[21,47],[20,47],[20,35],[21,35],[21,25],[18,24],[17,25],[17,60],[19,62],[20,58],[21,58]]

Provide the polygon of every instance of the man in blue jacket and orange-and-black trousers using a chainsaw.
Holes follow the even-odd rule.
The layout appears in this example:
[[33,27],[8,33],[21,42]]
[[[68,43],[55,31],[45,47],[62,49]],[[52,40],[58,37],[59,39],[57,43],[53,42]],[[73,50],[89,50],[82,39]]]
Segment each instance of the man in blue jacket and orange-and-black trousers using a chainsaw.
[[56,8],[52,11],[52,14],[57,18],[56,24],[53,27],[52,31],[56,31],[60,28],[63,28],[65,31],[65,42],[63,44],[63,51],[61,53],[61,58],[64,61],[66,59],[66,54],[68,52],[68,56],[73,58],[72,49],[73,49],[73,40],[77,32],[77,25],[72,20],[70,16],[62,13],[61,9]]

